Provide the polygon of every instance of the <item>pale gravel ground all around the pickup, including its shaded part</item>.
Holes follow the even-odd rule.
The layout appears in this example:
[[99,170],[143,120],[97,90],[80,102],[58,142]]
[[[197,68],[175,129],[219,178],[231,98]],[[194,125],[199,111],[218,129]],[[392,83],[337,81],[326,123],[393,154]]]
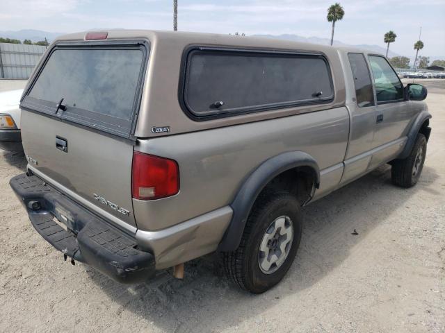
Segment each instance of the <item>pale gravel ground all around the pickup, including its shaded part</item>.
[[63,262],[8,185],[24,156],[0,151],[0,332],[445,332],[445,80],[421,83],[433,130],[419,184],[394,187],[382,167],[306,207],[296,262],[259,296],[214,255],[184,281],[131,287]]

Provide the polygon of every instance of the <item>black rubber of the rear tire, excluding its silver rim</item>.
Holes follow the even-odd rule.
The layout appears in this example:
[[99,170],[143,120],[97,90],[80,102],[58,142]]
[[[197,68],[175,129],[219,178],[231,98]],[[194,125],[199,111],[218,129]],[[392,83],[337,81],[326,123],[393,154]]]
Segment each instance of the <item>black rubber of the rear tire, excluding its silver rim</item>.
[[[280,266],[275,265],[276,271],[263,273],[259,264],[261,241],[271,223],[275,223],[274,221],[282,216],[289,217],[286,218],[286,223],[292,224],[292,228],[287,228],[292,229],[293,233],[292,241],[289,241],[289,252]],[[242,289],[251,293],[264,293],[280,282],[291,267],[300,245],[301,232],[300,204],[295,196],[285,191],[261,195],[250,212],[240,245],[235,251],[222,254],[225,273]],[[286,248],[287,246],[286,244]]]

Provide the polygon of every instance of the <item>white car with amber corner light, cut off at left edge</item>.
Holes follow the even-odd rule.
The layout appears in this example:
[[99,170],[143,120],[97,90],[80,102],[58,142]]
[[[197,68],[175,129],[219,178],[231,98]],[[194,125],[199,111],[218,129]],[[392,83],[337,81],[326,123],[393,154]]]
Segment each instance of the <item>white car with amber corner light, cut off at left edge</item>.
[[22,151],[20,97],[23,89],[0,92],[0,149]]

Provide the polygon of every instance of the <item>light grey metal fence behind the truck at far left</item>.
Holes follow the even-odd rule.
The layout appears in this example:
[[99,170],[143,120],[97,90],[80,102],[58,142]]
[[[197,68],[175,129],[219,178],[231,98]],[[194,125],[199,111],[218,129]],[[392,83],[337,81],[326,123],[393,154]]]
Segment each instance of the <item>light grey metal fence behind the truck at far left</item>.
[[29,78],[46,46],[0,43],[0,78]]

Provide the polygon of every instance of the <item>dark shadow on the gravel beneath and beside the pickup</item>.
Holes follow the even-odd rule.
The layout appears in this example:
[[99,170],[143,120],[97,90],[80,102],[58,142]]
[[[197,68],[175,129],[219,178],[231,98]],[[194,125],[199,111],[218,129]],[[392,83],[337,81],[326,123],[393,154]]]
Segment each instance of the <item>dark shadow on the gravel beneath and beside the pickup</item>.
[[[396,210],[409,210],[406,201],[410,196],[435,191],[429,185],[437,177],[434,169],[425,166],[416,187],[401,189],[391,185],[391,168],[384,166],[305,207],[305,231],[296,261],[284,280],[261,296],[228,282],[220,273],[216,254],[188,262],[183,281],[161,273],[152,282],[129,287],[92,268],[86,267],[86,271],[120,304],[116,316],[132,311],[146,321],[147,327],[154,325],[168,332],[234,327],[264,313],[289,294],[312,287],[348,258],[353,246],[378,224],[385,223]],[[354,229],[356,236],[351,234]]]

